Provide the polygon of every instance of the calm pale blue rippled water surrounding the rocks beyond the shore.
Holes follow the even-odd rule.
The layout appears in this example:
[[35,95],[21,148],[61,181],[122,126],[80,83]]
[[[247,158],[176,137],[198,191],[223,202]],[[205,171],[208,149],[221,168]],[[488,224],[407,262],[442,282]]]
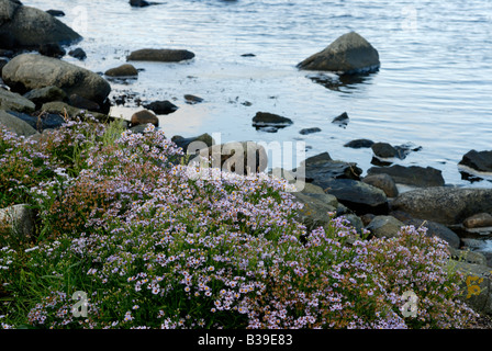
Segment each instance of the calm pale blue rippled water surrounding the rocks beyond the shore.
[[[66,59],[94,71],[123,64],[138,48],[193,52],[195,58],[186,64],[134,63],[145,69],[137,80],[112,83],[112,94],[131,92],[143,101],[178,105],[176,113],[160,116],[169,136],[303,140],[306,157],[328,151],[334,159],[357,162],[364,174],[372,167],[372,151],[345,143],[411,143],[422,150],[398,163],[440,169],[449,184],[492,186],[462,180],[457,167],[470,149],[492,149],[491,0],[163,0],[141,9],[127,0],[23,3],[65,11],[60,20],[85,37],[76,46],[88,55],[83,63]],[[321,78],[332,82],[327,88],[312,79],[313,72],[295,68],[349,31],[378,49],[377,73],[348,84],[324,73]],[[188,93],[204,102],[187,104]],[[128,117],[134,110],[127,105],[113,114]],[[257,111],[294,124],[278,133],[256,131]],[[343,112],[350,118],[346,128],[332,123]],[[300,135],[306,127],[322,132]]]

